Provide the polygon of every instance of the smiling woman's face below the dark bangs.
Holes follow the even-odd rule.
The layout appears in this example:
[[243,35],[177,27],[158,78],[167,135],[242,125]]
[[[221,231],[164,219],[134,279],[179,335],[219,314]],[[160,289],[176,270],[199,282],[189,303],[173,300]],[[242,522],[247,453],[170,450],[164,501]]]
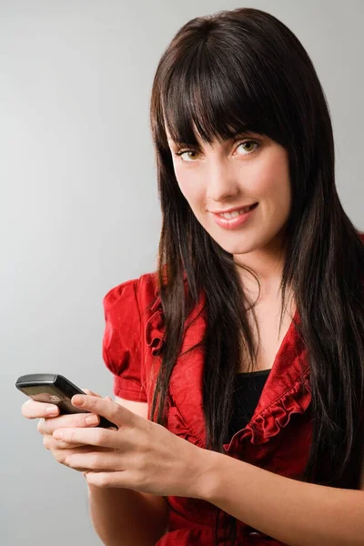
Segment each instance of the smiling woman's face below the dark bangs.
[[[277,248],[291,199],[286,148],[267,136],[242,134],[222,144],[201,143],[198,154],[190,147],[178,148],[168,133],[167,139],[178,186],[220,247],[234,258]],[[243,207],[255,203],[251,213],[240,215]],[[238,209],[239,216],[218,216],[231,208]]]

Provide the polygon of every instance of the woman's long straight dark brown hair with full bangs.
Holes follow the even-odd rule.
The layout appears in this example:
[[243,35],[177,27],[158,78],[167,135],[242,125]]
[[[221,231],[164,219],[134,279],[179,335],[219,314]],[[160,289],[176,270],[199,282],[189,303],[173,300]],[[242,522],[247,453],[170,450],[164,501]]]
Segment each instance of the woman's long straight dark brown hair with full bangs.
[[[238,366],[243,361],[245,369],[254,369],[257,357],[237,264],[199,224],[182,195],[166,125],[176,142],[197,152],[196,129],[207,143],[248,131],[268,136],[288,150],[292,196],[284,231],[280,319],[287,294],[294,294],[310,367],[313,434],[302,480],[357,489],[363,438],[364,245],[339,201],[329,106],[306,50],[286,25],[258,9],[192,19],[159,61],[150,122],[163,217],[157,279],[166,339],[152,419],[157,409],[157,422],[164,420],[185,321],[202,292],[207,449],[224,452]],[[217,543],[217,529],[215,536]]]

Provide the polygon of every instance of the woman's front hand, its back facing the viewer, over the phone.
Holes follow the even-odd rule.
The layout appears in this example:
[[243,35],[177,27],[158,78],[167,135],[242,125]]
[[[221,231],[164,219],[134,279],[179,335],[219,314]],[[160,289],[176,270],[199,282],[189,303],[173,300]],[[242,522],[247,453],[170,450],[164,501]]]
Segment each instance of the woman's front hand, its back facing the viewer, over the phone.
[[89,469],[85,473],[87,483],[161,496],[203,498],[202,481],[212,451],[198,448],[113,400],[76,395],[72,403],[106,417],[118,427],[67,428],[53,433],[57,440],[113,450],[75,453],[66,458],[71,468]]

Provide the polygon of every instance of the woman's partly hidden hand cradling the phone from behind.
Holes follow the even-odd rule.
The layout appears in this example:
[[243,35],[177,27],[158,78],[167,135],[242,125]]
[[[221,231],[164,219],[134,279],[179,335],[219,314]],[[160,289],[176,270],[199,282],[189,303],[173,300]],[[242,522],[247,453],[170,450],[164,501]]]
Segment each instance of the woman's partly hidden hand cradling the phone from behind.
[[[88,389],[83,389],[86,394],[92,394],[98,398],[102,398],[99,394]],[[109,398],[110,397],[106,397]],[[49,413],[47,410],[54,410]],[[56,440],[53,433],[57,429],[64,427],[96,427],[100,422],[100,418],[95,413],[69,413],[59,415],[59,409],[56,404],[47,404],[45,402],[36,402],[33,399],[27,400],[22,406],[22,415],[26,419],[39,419],[37,430],[43,435],[43,445],[46,450],[49,450],[55,459],[61,464],[66,465],[66,457],[71,453],[88,453],[90,451],[105,451],[106,448],[96,448],[95,446],[86,446],[84,444],[70,444],[66,441]],[[94,422],[87,422],[90,418],[94,418]],[[86,469],[74,470],[85,472]],[[89,470],[89,469],[88,469]]]

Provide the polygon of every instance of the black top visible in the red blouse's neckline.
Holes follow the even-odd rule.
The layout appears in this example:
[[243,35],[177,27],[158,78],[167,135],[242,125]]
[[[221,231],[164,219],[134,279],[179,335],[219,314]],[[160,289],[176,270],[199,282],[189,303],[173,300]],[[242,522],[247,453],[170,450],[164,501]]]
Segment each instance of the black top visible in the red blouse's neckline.
[[234,415],[229,427],[230,440],[238,430],[244,429],[252,418],[269,372],[270,369],[259,369],[250,373],[237,374],[237,387],[234,392]]

